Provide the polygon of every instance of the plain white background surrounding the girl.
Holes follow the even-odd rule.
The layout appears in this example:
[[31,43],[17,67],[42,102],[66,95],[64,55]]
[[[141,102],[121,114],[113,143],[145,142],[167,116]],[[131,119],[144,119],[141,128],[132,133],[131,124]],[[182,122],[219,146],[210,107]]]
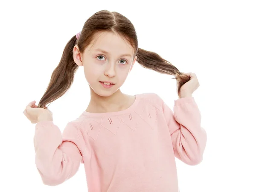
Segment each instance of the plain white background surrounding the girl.
[[[204,160],[177,160],[180,192],[255,192],[256,6],[248,0],[1,1],[0,191],[87,191],[83,164],[70,180],[46,186],[35,166],[35,124],[23,114],[38,104],[67,42],[102,9],[128,17],[139,47],[157,52],[180,71],[197,75],[192,96],[207,131]],[[174,76],[135,63],[122,92],[157,93],[173,109]],[[70,90],[53,102],[63,131],[87,108],[88,84],[80,67]]]

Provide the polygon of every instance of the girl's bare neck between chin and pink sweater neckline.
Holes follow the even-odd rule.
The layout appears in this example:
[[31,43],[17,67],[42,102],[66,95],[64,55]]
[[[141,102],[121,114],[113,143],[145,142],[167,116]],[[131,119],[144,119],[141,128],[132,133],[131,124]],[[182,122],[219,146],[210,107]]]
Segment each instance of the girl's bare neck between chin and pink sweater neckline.
[[87,112],[91,113],[106,113],[121,111],[126,108],[127,103],[130,101],[130,96],[117,90],[111,96],[104,97],[99,96],[90,87],[90,102],[86,109]]

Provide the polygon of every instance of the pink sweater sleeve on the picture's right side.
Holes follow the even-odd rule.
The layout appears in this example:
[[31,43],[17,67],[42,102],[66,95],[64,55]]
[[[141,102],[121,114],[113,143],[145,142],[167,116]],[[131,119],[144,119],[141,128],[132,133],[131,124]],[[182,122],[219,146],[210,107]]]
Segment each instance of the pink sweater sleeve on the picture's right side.
[[171,134],[175,157],[188,165],[201,163],[207,134],[201,127],[201,113],[194,97],[175,100],[174,111],[162,99],[161,105]]

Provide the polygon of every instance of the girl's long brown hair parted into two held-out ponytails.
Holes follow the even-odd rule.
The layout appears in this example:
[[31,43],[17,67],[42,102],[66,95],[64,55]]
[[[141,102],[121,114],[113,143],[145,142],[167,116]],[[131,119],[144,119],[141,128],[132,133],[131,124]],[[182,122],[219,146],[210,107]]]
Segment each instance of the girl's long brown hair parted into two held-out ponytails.
[[189,81],[188,76],[181,73],[177,67],[160,57],[157,53],[138,48],[137,34],[130,20],[118,12],[102,10],[93,14],[84,23],[78,40],[76,35],[74,35],[68,41],[58,66],[52,72],[47,90],[38,103],[39,108],[47,108],[47,104],[63,96],[73,83],[76,70],[79,67],[73,59],[74,46],[77,45],[79,51],[84,52],[84,49],[91,43],[95,34],[103,31],[114,32],[120,35],[120,37],[125,38],[134,48],[134,57],[135,55],[137,56],[137,62],[142,67],[157,71],[158,73],[175,76],[172,79],[178,81],[178,93],[180,87]]

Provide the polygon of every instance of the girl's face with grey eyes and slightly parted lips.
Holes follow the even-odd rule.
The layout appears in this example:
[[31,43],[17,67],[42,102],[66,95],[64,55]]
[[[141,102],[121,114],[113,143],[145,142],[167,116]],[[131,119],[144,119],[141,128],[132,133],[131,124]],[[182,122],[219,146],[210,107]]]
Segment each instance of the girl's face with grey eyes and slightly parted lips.
[[[134,49],[131,45],[112,32],[98,33],[82,53],[82,62],[75,47],[74,60],[84,66],[85,78],[99,96],[111,96],[119,90],[137,59],[136,56],[134,60],[132,58]],[[113,84],[104,85],[102,81]]]

